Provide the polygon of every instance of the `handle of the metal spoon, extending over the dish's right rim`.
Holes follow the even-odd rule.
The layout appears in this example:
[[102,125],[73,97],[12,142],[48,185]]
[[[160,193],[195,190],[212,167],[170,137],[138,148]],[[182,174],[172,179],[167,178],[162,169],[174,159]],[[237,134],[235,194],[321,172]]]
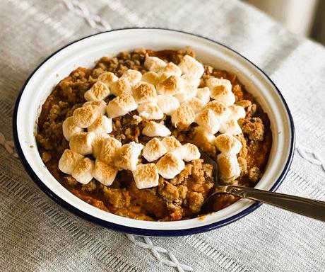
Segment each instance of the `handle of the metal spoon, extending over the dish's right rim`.
[[225,193],[231,193],[233,196],[257,200],[261,203],[267,203],[278,208],[299,213],[300,215],[325,221],[325,202],[323,201],[300,198],[299,196],[290,196],[283,193],[273,193],[242,186],[230,185],[225,187]]

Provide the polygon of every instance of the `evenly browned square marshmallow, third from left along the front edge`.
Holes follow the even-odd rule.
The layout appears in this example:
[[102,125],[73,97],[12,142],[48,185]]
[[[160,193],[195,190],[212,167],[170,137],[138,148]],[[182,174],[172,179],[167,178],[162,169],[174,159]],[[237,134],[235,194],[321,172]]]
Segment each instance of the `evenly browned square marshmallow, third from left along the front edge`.
[[105,186],[110,186],[117,176],[117,171],[118,169],[116,166],[96,159],[93,177]]

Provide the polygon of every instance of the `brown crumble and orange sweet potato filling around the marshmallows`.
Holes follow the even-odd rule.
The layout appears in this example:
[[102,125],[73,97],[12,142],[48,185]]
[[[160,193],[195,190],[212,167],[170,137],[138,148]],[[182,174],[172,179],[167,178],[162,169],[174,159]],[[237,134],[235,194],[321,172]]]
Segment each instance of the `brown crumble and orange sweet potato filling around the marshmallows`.
[[[90,181],[87,185],[76,182],[71,176],[59,171],[58,162],[64,149],[69,148],[62,135],[62,122],[72,115],[73,111],[85,102],[83,94],[96,81],[102,72],[110,71],[120,77],[127,69],[146,72],[143,66],[146,54],[157,56],[167,62],[179,63],[184,55],[195,57],[192,50],[134,50],[122,52],[117,57],[102,57],[93,69],[79,67],[69,77],[62,79],[49,95],[42,113],[38,119],[37,146],[47,169],[71,193],[90,205],[112,212],[116,215],[138,220],[183,220],[198,217],[208,212],[220,210],[237,199],[223,195],[213,200],[204,210],[201,205],[213,188],[212,166],[196,159],[186,164],[185,169],[174,179],[160,177],[159,186],[150,189],[136,188],[131,172],[119,171],[112,186],[103,186],[98,181]],[[242,150],[238,154],[241,176],[237,183],[244,186],[254,186],[261,179],[268,154],[271,149],[271,130],[266,113],[262,110],[251,94],[237,80],[235,74],[205,66],[203,79],[213,75],[229,79],[232,91],[236,96],[236,103],[243,106],[246,117],[239,120],[243,135],[238,136],[242,142]],[[112,99],[110,96],[106,102]],[[146,120],[136,118],[136,111],[122,117],[113,118],[113,132],[110,136],[121,141],[122,144],[135,141],[145,144],[149,137],[141,135]],[[182,144],[193,142],[215,159],[218,150],[200,138],[194,137],[195,124],[187,131],[174,128],[170,117],[164,116],[165,125],[172,131]],[[93,157],[90,156],[91,159]],[[146,160],[143,159],[143,163]]]

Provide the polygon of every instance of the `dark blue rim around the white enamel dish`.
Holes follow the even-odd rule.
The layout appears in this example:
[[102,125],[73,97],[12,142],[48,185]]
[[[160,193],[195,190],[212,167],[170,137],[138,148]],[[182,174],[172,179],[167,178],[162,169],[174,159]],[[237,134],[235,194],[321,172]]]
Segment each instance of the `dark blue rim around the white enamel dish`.
[[172,29],[168,29],[168,28],[119,28],[119,29],[114,29],[114,30],[110,30],[110,31],[101,32],[101,33],[95,33],[93,35],[88,35],[88,36],[86,36],[84,38],[81,38],[79,40],[75,40],[75,41],[69,43],[68,45],[65,45],[64,47],[61,47],[59,50],[55,51],[52,55],[49,55],[49,57],[47,57],[44,61],[42,61],[36,67],[36,69],[32,72],[32,74],[30,74],[28,79],[26,79],[25,83],[23,84],[23,87],[20,90],[20,92],[18,94],[18,97],[16,99],[15,107],[14,107],[14,110],[13,110],[13,140],[15,142],[16,152],[18,153],[18,156],[20,157],[20,160],[23,163],[23,166],[24,166],[25,170],[27,171],[28,175],[37,184],[37,186],[43,192],[45,192],[47,194],[47,196],[52,198],[55,202],[57,202],[59,205],[63,206],[64,208],[66,208],[70,212],[73,212],[75,215],[78,215],[79,217],[82,217],[85,220],[88,220],[90,222],[95,222],[98,225],[102,225],[102,226],[107,227],[109,229],[117,230],[119,232],[126,232],[126,233],[129,233],[129,234],[144,235],[144,236],[155,236],[155,237],[172,237],[172,236],[182,236],[182,235],[197,234],[197,233],[201,233],[201,232],[208,232],[210,230],[217,229],[219,227],[223,227],[223,226],[228,225],[228,224],[230,224],[232,222],[235,222],[236,220],[239,220],[240,218],[242,218],[242,217],[248,215],[249,213],[253,212],[254,210],[256,210],[256,208],[259,208],[261,203],[255,202],[252,205],[250,205],[248,208],[246,208],[245,210],[242,210],[241,212],[237,213],[237,215],[232,215],[231,217],[228,217],[225,220],[220,220],[220,221],[212,223],[210,225],[205,225],[205,226],[202,226],[202,227],[194,227],[194,228],[191,228],[191,229],[141,229],[141,228],[136,228],[136,227],[127,227],[127,226],[124,226],[124,225],[118,225],[118,224],[115,224],[115,223],[112,223],[112,222],[107,222],[105,220],[101,220],[98,217],[94,217],[92,215],[88,215],[87,213],[82,212],[81,210],[78,210],[78,208],[74,207],[73,205],[71,205],[69,203],[66,203],[66,201],[64,201],[59,196],[57,196],[55,193],[53,193],[51,190],[49,190],[49,188],[47,188],[47,186],[45,186],[45,184],[37,176],[35,171],[33,171],[32,167],[30,166],[27,159],[25,158],[25,155],[23,154],[23,149],[21,148],[20,142],[18,140],[18,131],[17,131],[18,107],[19,107],[19,103],[20,103],[20,98],[21,98],[21,96],[23,94],[25,86],[28,84],[28,81],[30,81],[33,74],[35,74],[37,69],[39,69],[42,66],[42,64],[47,62],[47,60],[49,60],[49,58],[53,57],[54,55],[56,55],[58,52],[60,52],[64,48],[68,47],[69,45],[72,45],[73,43],[79,42],[80,40],[84,40],[84,39],[93,37],[95,35],[100,35],[102,33],[114,32],[114,31],[119,31],[119,30],[131,30],[131,29],[168,30],[168,31],[173,31],[173,32],[177,32],[177,33],[184,33],[184,34],[188,34],[188,35],[193,35],[193,36],[196,36],[196,37],[199,37],[199,38],[203,38],[205,40],[210,40],[211,42],[215,42],[218,45],[226,47],[226,48],[228,48],[228,50],[231,50],[232,52],[235,52],[235,54],[237,54],[240,57],[244,58],[244,60],[247,60],[247,62],[249,62],[256,69],[258,69],[259,72],[264,74],[264,76],[268,79],[268,81],[271,82],[273,87],[278,92],[278,95],[280,96],[280,98],[282,100],[282,103],[285,106],[285,110],[286,110],[286,112],[288,114],[288,117],[289,117],[289,120],[290,120],[290,130],[291,130],[290,132],[291,132],[292,137],[291,137],[291,141],[290,141],[290,153],[289,153],[288,161],[286,162],[285,167],[284,167],[282,173],[280,174],[278,180],[273,184],[272,188],[269,191],[276,191],[278,186],[280,186],[280,183],[283,182],[283,180],[285,179],[285,176],[288,174],[288,171],[290,169],[290,165],[291,165],[291,163],[293,161],[293,154],[294,154],[294,151],[295,151],[295,126],[293,124],[293,117],[292,117],[292,115],[290,113],[288,104],[285,102],[285,99],[283,98],[283,96],[280,93],[280,90],[278,89],[276,84],[274,84],[274,82],[268,77],[268,75],[262,69],[257,67],[253,62],[248,60],[246,57],[242,56],[239,52],[237,52],[235,50],[232,50],[227,45],[223,45],[220,42],[216,42],[215,40],[211,40],[211,39],[203,37],[201,35],[196,35],[196,34],[193,34],[193,33],[187,33],[185,31],[181,31],[181,30],[172,30]]

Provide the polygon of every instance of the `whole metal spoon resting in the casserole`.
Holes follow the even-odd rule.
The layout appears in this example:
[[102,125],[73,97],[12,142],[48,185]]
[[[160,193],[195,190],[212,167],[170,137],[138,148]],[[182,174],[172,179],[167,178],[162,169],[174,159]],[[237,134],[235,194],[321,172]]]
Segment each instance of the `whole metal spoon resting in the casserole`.
[[299,196],[285,195],[284,193],[273,193],[269,191],[244,187],[227,185],[220,186],[218,183],[218,165],[208,156],[208,154],[201,152],[201,159],[208,164],[213,165],[215,185],[213,191],[203,205],[211,201],[211,198],[220,193],[230,193],[232,196],[238,198],[248,198],[250,200],[260,201],[261,203],[270,204],[278,208],[290,210],[300,215],[312,217],[317,220],[325,221],[325,202],[319,200],[312,200],[309,198],[300,198]]

